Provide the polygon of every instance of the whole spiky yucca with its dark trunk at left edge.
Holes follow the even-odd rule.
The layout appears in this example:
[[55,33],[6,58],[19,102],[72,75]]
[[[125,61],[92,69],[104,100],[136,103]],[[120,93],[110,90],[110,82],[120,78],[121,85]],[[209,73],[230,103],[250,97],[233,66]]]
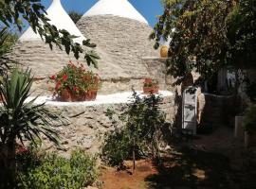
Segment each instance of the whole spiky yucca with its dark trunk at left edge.
[[45,104],[36,105],[37,97],[28,101],[32,81],[28,69],[14,68],[0,84],[0,94],[4,96],[0,105],[0,177],[3,179],[0,188],[10,188],[15,183],[16,142],[23,144],[27,140],[37,144],[36,141],[45,135],[59,144],[55,127],[62,123],[61,119],[49,112]]

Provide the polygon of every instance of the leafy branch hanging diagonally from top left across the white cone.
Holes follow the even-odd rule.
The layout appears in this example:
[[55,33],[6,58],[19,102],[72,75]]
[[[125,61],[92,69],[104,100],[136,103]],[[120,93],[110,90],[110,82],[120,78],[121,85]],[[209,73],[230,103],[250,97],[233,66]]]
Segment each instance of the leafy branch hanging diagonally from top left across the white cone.
[[[38,33],[41,38],[53,47],[55,43],[60,49],[63,49],[67,54],[72,52],[76,59],[79,59],[83,53],[84,59],[90,65],[97,67],[97,60],[100,57],[94,50],[84,50],[79,43],[74,43],[73,36],[64,29],[57,29],[56,26],[49,24],[49,19],[46,17],[46,9],[41,4],[41,0],[1,0],[0,1],[0,22],[4,26],[17,26],[22,30],[22,19],[32,27],[35,33]],[[86,47],[94,48],[96,44],[86,40],[82,43]]]

